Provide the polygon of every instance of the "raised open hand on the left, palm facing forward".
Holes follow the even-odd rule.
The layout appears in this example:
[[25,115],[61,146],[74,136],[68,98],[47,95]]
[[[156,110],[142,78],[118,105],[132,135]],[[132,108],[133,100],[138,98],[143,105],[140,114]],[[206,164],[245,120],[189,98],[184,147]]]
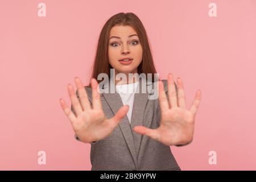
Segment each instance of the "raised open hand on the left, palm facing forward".
[[61,98],[60,105],[71,122],[77,137],[84,143],[91,143],[108,137],[121,119],[125,117],[129,106],[122,106],[112,118],[108,119],[102,110],[97,80],[94,78],[91,80],[92,105],[79,77],[75,78],[75,83],[79,98],[77,98],[71,84],[68,84],[68,94],[76,115]]

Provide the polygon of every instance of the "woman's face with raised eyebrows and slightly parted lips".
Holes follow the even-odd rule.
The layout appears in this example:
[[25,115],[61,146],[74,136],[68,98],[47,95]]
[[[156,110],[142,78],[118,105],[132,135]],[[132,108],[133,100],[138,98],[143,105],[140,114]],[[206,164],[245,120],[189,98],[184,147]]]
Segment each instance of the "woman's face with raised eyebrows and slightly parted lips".
[[[109,38],[109,64],[115,69],[115,73],[137,73],[143,51],[133,27],[114,26]],[[126,57],[133,60],[120,61]]]

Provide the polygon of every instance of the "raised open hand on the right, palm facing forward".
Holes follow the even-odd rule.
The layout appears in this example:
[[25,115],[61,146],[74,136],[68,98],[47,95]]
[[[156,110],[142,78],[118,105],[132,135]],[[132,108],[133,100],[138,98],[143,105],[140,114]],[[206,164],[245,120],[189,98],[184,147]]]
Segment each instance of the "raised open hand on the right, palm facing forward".
[[196,111],[201,100],[201,90],[197,90],[190,110],[185,108],[185,93],[181,78],[177,78],[177,90],[176,93],[172,73],[168,75],[168,99],[163,82],[159,81],[160,126],[157,129],[135,126],[134,131],[147,135],[167,146],[192,142]]

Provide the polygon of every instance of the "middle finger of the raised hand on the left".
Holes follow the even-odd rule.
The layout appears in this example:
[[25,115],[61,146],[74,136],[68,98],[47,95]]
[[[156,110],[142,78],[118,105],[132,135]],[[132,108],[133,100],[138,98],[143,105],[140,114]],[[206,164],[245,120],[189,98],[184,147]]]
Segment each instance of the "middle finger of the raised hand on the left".
[[79,93],[79,100],[81,102],[82,108],[84,110],[92,109],[90,107],[90,102],[88,100],[88,95],[86,93],[84,85],[82,84],[82,81],[80,80],[79,77],[76,77],[75,82],[76,82],[77,91]]

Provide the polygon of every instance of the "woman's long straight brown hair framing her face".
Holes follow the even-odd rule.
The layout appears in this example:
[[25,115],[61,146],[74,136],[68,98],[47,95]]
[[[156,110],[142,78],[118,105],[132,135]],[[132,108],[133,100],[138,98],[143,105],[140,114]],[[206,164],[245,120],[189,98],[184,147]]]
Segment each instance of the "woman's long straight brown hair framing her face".
[[[147,75],[147,73],[152,73],[152,81],[154,81],[154,73],[156,73],[156,69],[152,58],[150,44],[148,43],[147,33],[141,20],[134,13],[115,14],[104,24],[100,33],[100,38],[98,39],[90,79],[96,78],[97,80],[100,73],[106,73],[110,77],[110,68],[112,68],[112,66],[109,64],[108,45],[110,30],[115,25],[129,25],[137,32],[143,51],[142,62],[138,66],[138,74],[145,73]],[[98,82],[100,82],[100,80],[98,80]]]

